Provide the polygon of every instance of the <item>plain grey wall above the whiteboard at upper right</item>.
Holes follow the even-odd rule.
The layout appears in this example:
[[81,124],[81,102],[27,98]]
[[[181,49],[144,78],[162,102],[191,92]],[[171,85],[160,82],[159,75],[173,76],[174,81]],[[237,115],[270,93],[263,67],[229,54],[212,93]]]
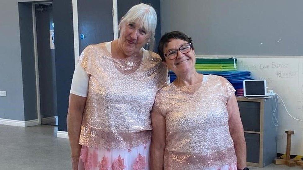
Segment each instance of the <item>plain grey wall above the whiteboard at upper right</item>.
[[196,54],[303,55],[302,7],[302,0],[161,0],[161,35],[183,31]]

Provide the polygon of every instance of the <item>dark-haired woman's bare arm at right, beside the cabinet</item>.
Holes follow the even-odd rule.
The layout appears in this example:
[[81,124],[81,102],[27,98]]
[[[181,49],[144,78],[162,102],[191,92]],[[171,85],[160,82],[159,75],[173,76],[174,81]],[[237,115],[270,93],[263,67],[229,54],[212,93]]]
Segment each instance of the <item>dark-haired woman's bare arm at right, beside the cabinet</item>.
[[235,94],[227,102],[229,132],[233,138],[233,143],[237,156],[237,168],[246,167],[246,142],[244,138],[243,125],[240,118],[240,111]]

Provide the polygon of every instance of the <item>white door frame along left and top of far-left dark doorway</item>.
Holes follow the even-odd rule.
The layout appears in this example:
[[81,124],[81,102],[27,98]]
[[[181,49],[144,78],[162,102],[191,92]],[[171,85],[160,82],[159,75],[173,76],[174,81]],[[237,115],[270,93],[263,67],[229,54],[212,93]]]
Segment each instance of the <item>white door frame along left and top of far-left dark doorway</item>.
[[52,4],[49,2],[34,2],[32,0],[32,15],[33,15],[33,36],[34,36],[34,54],[35,54],[35,72],[36,72],[36,94],[37,94],[37,116],[38,124],[41,124],[41,107],[40,107],[40,86],[39,86],[39,66],[38,66],[38,46],[37,46],[37,29],[36,29],[36,8],[38,4]]

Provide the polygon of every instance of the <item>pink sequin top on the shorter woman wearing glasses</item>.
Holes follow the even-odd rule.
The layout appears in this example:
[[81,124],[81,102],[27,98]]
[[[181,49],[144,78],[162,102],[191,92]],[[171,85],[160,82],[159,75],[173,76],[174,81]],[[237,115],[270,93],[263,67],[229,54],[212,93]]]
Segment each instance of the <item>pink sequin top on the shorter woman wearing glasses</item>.
[[[198,87],[198,88],[196,88]],[[205,169],[237,162],[226,103],[235,89],[209,75],[193,86],[164,86],[153,109],[166,120],[165,169]]]

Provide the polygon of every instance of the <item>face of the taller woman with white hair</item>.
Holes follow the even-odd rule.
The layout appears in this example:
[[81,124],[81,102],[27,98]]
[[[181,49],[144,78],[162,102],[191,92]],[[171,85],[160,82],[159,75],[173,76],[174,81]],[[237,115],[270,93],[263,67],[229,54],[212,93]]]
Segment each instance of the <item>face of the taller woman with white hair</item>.
[[121,24],[119,46],[122,52],[128,56],[138,54],[140,49],[149,41],[150,35],[138,25],[138,23],[133,22]]

